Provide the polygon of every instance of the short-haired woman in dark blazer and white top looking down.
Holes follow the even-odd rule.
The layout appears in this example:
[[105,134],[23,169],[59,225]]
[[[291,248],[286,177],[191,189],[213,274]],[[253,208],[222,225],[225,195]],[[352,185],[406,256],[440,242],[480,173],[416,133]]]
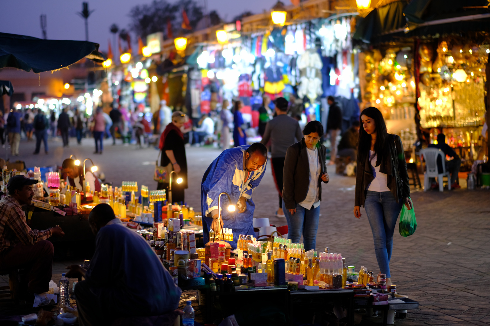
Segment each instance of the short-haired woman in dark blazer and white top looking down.
[[306,251],[316,247],[321,182],[329,180],[325,146],[319,144],[322,134],[321,123],[310,121],[303,129],[303,139],[288,148],[284,160],[282,205],[286,208],[288,239],[297,243],[303,233]]

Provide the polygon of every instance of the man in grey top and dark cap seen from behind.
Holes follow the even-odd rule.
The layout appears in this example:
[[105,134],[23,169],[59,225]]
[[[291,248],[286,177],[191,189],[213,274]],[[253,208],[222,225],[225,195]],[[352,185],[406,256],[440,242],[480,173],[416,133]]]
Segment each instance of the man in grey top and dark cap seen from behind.
[[275,100],[275,112],[277,115],[267,123],[264,136],[260,141],[262,144],[267,145],[270,140],[272,177],[279,193],[279,208],[275,213],[276,217],[285,217],[282,210],[282,190],[284,187],[282,177],[286,152],[291,145],[296,141],[301,141],[303,138],[299,123],[287,114],[288,104],[288,100],[284,97],[278,97]]

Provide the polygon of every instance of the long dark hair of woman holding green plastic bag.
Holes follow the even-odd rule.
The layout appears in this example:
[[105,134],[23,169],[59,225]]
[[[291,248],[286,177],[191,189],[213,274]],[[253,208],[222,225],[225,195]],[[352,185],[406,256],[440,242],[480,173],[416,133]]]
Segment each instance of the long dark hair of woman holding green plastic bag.
[[363,127],[362,116],[366,115],[374,120],[376,124],[376,143],[374,144],[374,152],[378,155],[376,159],[376,166],[390,155],[390,147],[388,146],[388,132],[386,131],[385,119],[383,119],[383,114],[374,108],[369,107],[364,109],[359,116],[359,121],[361,122],[361,129],[359,130],[359,148],[358,148],[358,159],[364,164],[366,157],[368,156],[369,150],[371,149],[371,135],[369,135]]

